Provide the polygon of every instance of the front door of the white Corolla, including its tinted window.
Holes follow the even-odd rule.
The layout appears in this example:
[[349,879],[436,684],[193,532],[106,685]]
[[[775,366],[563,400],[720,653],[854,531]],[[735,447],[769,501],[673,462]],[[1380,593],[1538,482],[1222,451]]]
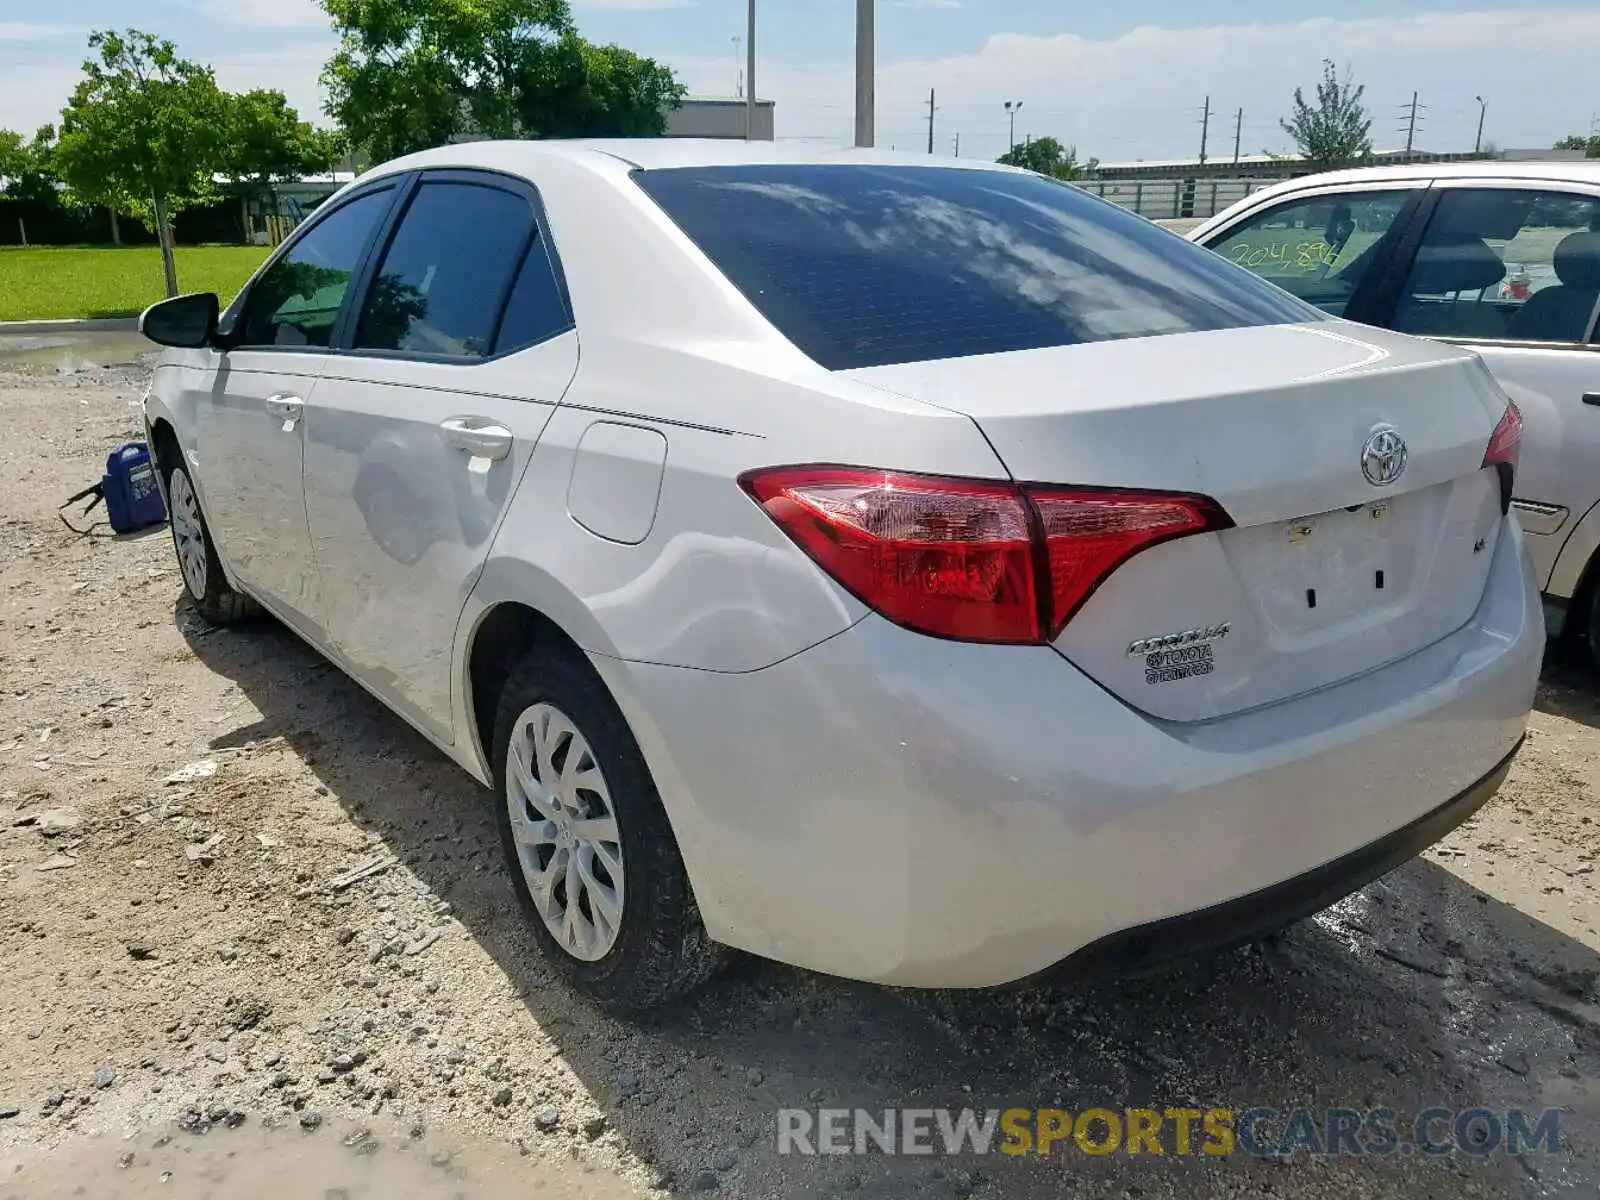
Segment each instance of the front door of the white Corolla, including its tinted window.
[[392,189],[339,202],[254,280],[221,331],[195,445],[206,518],[238,586],[318,640],[323,605],[301,491],[304,410]]

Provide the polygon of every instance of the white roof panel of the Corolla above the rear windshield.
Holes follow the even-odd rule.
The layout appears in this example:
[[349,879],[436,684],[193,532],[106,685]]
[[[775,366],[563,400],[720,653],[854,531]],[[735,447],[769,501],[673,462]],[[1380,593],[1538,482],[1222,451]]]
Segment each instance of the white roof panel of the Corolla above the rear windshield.
[[[622,170],[661,171],[675,166],[744,166],[744,165],[869,165],[869,166],[941,166],[965,170],[1013,171],[1016,168],[981,158],[947,158],[877,149],[851,149],[818,142],[742,141],[718,138],[582,138],[582,139],[518,139],[474,141],[421,150],[376,166],[371,174],[422,168],[533,168],[552,158],[587,165],[597,171]],[[365,178],[365,176],[363,176]]]

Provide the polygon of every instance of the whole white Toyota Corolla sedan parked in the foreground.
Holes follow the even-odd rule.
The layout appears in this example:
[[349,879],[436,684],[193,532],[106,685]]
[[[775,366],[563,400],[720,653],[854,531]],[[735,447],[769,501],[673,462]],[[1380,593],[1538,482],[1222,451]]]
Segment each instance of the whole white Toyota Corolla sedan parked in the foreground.
[[1504,778],[1544,629],[1477,355],[1072,187],[477,142],[144,314],[195,608],[493,786],[552,963],[1138,973]]

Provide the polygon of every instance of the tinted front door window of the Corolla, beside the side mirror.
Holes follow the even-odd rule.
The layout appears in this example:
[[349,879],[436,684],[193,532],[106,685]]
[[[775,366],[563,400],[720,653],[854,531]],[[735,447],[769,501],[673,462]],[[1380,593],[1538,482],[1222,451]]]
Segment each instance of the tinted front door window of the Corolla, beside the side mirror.
[[350,277],[389,211],[392,189],[357,197],[318,221],[256,280],[240,346],[328,346]]

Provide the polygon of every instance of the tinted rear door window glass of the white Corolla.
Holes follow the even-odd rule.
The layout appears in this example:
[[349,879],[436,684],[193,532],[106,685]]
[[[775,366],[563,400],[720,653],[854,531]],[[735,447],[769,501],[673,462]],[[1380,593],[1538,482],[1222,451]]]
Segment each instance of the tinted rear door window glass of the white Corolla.
[[424,182],[373,277],[354,349],[486,357],[531,235],[533,208],[514,192]]

